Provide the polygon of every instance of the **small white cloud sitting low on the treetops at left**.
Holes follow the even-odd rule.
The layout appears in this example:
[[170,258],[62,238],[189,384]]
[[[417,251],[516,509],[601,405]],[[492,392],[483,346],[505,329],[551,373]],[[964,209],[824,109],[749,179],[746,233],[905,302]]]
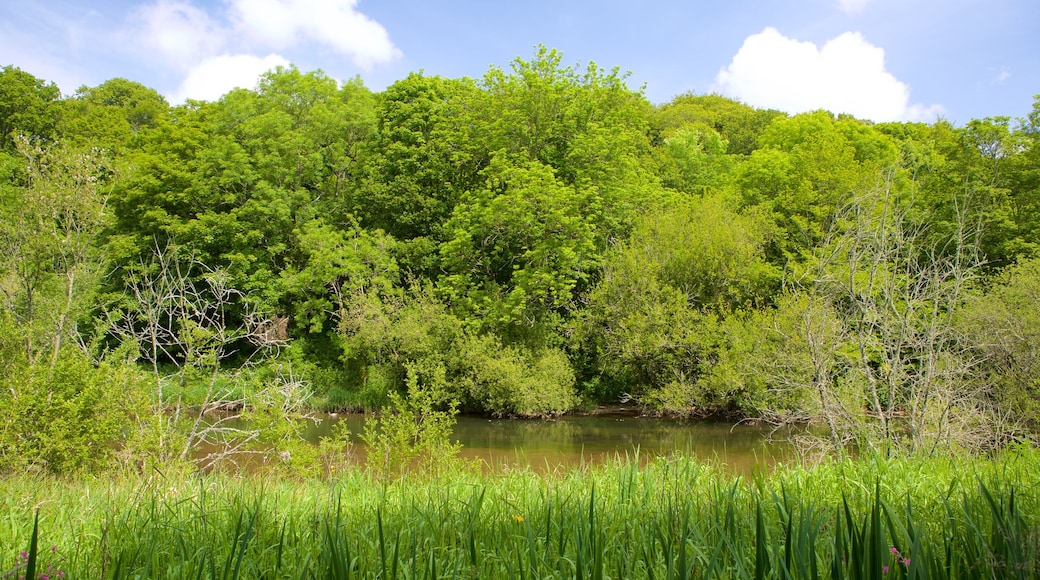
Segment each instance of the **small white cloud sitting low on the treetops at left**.
[[187,99],[215,101],[233,88],[255,88],[260,75],[289,61],[279,54],[260,58],[252,54],[222,55],[207,58],[193,67],[173,95],[171,103]]

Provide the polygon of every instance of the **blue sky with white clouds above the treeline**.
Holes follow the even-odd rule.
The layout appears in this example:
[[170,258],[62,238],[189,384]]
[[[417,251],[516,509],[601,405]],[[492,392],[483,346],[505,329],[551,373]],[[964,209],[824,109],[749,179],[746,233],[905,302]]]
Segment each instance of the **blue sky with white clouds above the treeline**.
[[718,93],[877,122],[1025,116],[1040,0],[0,0],[0,65],[64,95],[115,77],[173,104],[294,64],[383,90],[479,79],[537,47],[653,103]]

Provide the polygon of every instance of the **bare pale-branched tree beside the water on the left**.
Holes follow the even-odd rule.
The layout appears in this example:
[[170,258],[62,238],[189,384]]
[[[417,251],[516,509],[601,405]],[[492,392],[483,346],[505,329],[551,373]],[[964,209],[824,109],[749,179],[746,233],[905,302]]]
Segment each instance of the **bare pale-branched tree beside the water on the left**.
[[[285,338],[279,322],[250,309],[226,271],[182,252],[156,245],[149,261],[129,271],[125,302],[110,319],[151,366],[160,458],[183,460],[205,444],[212,451],[204,463],[212,464],[259,437],[236,424],[246,401],[234,395],[234,383]],[[244,316],[237,315],[241,312]],[[249,351],[240,352],[242,347]],[[233,355],[240,361],[225,369]],[[184,401],[189,384],[205,386],[201,403],[191,407]]]

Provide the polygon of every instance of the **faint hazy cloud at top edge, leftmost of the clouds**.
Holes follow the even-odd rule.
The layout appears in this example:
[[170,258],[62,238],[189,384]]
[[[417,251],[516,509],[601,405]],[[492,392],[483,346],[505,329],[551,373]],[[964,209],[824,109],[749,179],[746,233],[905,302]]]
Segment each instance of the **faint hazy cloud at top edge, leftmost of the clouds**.
[[225,44],[222,27],[205,10],[182,0],[158,0],[141,6],[130,22],[132,42],[155,51],[180,71],[216,54]]

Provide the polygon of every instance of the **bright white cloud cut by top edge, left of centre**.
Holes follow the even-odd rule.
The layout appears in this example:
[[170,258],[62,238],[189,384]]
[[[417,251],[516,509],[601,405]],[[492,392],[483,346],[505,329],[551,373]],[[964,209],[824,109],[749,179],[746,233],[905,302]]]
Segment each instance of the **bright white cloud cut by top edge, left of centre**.
[[232,20],[250,38],[286,48],[313,42],[369,69],[400,56],[380,23],[357,10],[358,0],[231,0]]

